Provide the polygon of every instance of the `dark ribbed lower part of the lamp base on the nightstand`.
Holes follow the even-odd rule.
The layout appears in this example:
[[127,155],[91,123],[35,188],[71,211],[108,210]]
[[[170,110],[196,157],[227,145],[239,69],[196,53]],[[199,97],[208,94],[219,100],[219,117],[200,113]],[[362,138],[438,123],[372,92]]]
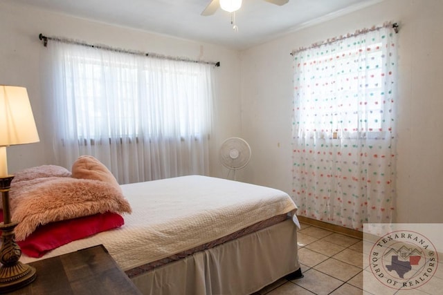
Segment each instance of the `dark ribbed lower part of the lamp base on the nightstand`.
[[14,291],[32,283],[37,273],[34,267],[19,261],[21,249],[15,242],[14,228],[17,222],[8,224],[0,223],[1,249],[0,249],[0,293]]

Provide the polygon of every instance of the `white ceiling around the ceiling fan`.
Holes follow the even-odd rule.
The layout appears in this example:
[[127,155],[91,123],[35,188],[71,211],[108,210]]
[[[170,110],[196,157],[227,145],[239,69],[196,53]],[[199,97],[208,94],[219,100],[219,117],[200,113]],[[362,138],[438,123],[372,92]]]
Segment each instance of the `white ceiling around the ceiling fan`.
[[230,13],[220,8],[214,15],[200,15],[210,0],[11,1],[84,19],[244,49],[383,0],[289,0],[284,6],[243,0],[242,8],[235,13],[238,32],[234,32],[230,24]]

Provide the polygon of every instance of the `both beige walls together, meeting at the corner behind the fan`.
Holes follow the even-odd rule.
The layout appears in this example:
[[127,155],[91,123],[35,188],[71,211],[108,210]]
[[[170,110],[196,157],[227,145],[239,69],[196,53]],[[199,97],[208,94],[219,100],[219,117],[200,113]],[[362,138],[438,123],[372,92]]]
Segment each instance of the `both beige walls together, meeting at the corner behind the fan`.
[[[28,88],[37,128],[44,47],[40,32],[91,43],[165,55],[221,61],[217,73],[211,175],[224,177],[219,144],[244,137],[251,163],[237,179],[291,191],[292,61],[289,53],[315,41],[379,25],[400,23],[397,162],[397,222],[443,222],[443,1],[386,0],[242,52],[175,39],[51,12],[0,3],[0,84]],[[39,128],[40,133],[44,131]],[[51,151],[46,151],[50,153]],[[10,172],[48,163],[43,143],[8,148]]]

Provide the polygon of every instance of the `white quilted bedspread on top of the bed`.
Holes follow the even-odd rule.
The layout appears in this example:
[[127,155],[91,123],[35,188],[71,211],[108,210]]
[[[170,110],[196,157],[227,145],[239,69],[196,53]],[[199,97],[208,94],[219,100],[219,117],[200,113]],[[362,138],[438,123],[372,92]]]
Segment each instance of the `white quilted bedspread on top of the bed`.
[[[133,209],[123,227],[70,242],[39,259],[103,244],[127,270],[296,211],[283,191],[199,175],[121,187]],[[34,260],[21,256],[24,263]]]

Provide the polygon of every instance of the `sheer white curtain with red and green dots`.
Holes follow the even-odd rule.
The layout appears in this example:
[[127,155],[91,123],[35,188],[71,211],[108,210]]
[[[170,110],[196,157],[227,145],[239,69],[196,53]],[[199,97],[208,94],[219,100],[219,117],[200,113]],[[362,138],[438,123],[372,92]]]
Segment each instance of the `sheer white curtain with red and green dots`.
[[294,55],[293,198],[302,216],[363,230],[395,211],[395,32]]

